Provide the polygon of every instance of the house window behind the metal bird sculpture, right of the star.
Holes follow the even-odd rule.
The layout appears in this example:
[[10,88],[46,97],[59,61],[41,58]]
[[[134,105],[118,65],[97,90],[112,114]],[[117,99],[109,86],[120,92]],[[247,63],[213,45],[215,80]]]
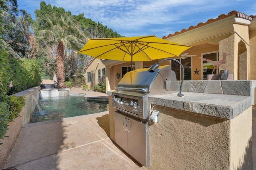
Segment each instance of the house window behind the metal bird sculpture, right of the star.
[[[202,57],[204,59],[208,59],[211,61],[217,61],[218,52],[202,54]],[[216,74],[218,72],[218,67],[214,70],[214,72],[212,72],[214,69],[214,66],[210,61],[202,61],[202,62],[203,62],[203,80],[206,80],[207,74]]]

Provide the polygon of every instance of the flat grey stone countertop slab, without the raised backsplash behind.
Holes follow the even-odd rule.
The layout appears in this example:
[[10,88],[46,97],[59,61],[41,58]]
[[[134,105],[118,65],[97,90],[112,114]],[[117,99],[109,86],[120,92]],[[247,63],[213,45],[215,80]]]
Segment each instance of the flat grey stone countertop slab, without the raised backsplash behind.
[[250,107],[254,102],[252,96],[194,92],[182,92],[182,94],[184,94],[183,97],[178,97],[177,93],[149,96],[148,102],[153,105],[170,107],[223,119],[233,119],[238,114],[242,113],[242,111]]

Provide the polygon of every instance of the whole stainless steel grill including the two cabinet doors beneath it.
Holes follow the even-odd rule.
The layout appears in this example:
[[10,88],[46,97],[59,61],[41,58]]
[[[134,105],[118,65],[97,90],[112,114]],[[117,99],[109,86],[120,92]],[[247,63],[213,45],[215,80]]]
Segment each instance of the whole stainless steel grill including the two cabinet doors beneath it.
[[177,92],[177,80],[171,66],[155,72],[143,68],[127,72],[112,92],[115,111],[116,143],[144,166],[150,166],[148,96]]

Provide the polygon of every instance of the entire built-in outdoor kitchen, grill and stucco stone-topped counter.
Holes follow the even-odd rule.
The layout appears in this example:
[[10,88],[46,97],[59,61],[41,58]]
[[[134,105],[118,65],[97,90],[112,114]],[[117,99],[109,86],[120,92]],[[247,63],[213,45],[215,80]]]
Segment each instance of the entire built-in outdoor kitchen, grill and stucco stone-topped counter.
[[170,65],[133,70],[108,91],[110,139],[148,169],[252,169],[254,88],[177,82]]

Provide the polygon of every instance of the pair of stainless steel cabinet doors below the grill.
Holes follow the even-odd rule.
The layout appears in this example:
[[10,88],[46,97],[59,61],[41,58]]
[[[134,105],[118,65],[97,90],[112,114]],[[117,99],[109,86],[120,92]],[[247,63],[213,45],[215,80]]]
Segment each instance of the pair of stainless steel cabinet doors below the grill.
[[150,166],[148,123],[115,111],[116,144],[143,166]]

